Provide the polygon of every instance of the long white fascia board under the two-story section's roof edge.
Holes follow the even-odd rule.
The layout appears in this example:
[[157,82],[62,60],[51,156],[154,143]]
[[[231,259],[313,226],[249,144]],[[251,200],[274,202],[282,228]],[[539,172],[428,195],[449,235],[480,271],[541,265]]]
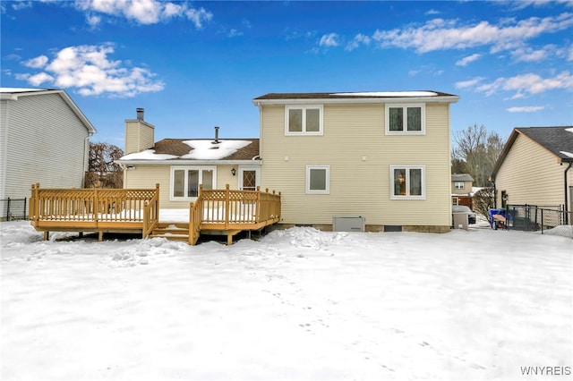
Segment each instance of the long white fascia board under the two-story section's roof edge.
[[360,97],[360,98],[307,98],[307,99],[253,99],[254,106],[278,105],[363,105],[386,103],[456,103],[458,96],[442,97]]

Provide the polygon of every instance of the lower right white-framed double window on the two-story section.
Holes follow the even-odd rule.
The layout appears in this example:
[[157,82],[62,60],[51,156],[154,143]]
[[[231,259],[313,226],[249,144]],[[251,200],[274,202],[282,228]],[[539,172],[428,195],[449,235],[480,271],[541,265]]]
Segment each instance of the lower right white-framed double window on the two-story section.
[[425,199],[423,165],[390,165],[390,199]]

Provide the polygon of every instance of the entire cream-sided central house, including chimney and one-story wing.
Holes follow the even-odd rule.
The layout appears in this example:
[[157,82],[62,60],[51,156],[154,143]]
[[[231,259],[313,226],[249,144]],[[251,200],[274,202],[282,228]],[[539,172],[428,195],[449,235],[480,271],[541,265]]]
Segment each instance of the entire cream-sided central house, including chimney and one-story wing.
[[125,121],[125,188],[160,186],[162,208],[186,208],[199,184],[281,192],[281,224],[329,230],[361,216],[368,231],[451,226],[449,105],[435,91],[267,94],[260,138],[165,139]]

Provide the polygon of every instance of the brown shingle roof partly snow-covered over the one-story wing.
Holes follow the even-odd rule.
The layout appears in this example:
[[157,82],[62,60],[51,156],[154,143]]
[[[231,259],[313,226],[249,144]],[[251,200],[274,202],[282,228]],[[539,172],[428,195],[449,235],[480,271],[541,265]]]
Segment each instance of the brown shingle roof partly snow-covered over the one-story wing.
[[173,160],[243,161],[258,158],[258,139],[226,139],[218,142],[209,139],[164,139],[156,142],[150,149],[125,155],[115,161],[120,164],[134,162],[159,164]]

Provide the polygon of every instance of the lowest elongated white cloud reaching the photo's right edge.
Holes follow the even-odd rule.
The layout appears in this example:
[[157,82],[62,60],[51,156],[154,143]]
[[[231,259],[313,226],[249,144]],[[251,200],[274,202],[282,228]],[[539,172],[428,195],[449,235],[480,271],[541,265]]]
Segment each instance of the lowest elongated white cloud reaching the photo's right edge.
[[491,96],[499,91],[515,92],[513,98],[525,97],[526,94],[539,94],[552,89],[573,90],[573,75],[570,72],[561,72],[553,78],[542,78],[538,74],[527,73],[511,78],[498,78],[490,83],[476,88]]

